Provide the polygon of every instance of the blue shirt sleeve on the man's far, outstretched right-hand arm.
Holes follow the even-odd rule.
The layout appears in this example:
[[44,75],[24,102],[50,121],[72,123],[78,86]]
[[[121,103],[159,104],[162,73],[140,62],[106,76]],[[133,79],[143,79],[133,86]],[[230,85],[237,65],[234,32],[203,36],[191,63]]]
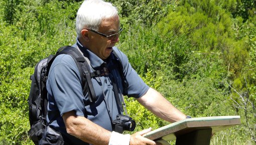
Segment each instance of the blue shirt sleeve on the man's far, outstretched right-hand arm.
[[119,56],[123,66],[123,73],[129,83],[127,89],[128,97],[139,98],[143,96],[148,90],[149,86],[143,81],[143,79],[138,75],[135,69],[130,64],[127,56],[121,52],[118,48],[114,47],[116,54]]

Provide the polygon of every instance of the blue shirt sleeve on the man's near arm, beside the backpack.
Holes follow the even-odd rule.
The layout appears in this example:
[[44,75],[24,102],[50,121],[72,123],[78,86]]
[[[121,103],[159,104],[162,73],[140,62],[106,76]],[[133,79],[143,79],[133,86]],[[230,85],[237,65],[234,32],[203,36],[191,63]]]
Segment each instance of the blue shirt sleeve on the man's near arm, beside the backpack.
[[85,98],[81,85],[80,73],[72,56],[58,55],[49,71],[47,90],[54,98],[61,116],[72,110],[76,115],[84,116]]

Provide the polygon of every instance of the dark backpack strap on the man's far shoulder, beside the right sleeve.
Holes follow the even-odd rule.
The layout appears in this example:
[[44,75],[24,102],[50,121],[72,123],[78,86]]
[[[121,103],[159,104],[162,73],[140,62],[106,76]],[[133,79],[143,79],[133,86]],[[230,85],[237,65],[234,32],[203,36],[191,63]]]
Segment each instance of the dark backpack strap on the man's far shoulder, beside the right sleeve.
[[122,80],[123,80],[122,81],[122,86],[123,86],[122,93],[123,93],[123,95],[127,95],[128,94],[128,90],[127,89],[128,89],[129,83],[128,83],[128,81],[127,81],[127,79],[126,79],[126,77],[125,77],[125,75],[123,73],[123,66],[122,66],[121,59],[120,59],[120,57],[117,55],[117,53],[114,50],[112,52],[114,54],[115,59],[117,60],[118,68],[119,68],[119,73],[120,73],[120,75],[122,77]]

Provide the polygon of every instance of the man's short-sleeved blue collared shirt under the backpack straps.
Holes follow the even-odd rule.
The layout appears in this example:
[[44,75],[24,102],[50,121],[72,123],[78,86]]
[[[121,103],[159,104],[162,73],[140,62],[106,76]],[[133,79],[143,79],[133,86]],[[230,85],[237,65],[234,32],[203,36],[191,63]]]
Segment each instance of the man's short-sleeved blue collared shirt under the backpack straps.
[[[79,48],[84,55],[87,54],[90,60],[89,65],[91,66],[91,72],[102,69],[102,66],[112,69],[109,70],[109,75],[92,77],[91,80],[97,100],[94,103],[90,103],[88,94],[83,95],[80,73],[74,59],[68,54],[58,55],[51,65],[46,85],[49,101],[47,120],[48,122],[53,120],[50,126],[60,131],[64,135],[65,141],[68,143],[87,144],[66,132],[62,115],[65,112],[74,110],[76,115],[84,116],[101,127],[112,131],[111,122],[116,119],[116,114],[118,114],[119,111],[115,101],[112,80],[114,77],[117,81],[117,87],[119,88],[118,97],[121,97],[123,89],[122,80],[119,70],[115,67],[118,64],[116,64],[112,53],[103,61],[93,52],[83,47],[78,39],[74,46]],[[127,56],[117,47],[113,47],[113,50],[121,59],[123,73],[129,83],[127,96],[141,97],[148,91],[149,86],[144,83],[137,72],[132,68]]]

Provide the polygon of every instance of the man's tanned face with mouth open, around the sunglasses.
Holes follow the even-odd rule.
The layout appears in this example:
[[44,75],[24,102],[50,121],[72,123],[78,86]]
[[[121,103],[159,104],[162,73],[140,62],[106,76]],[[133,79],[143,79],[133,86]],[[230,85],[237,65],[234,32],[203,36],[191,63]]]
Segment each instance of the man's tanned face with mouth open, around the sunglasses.
[[[99,25],[98,32],[110,35],[118,32],[119,28],[119,17],[115,16],[102,20]],[[88,31],[88,33],[90,35],[89,49],[101,59],[106,59],[110,55],[112,47],[115,45],[116,42],[119,41],[118,36],[114,39],[109,39],[90,30]]]

